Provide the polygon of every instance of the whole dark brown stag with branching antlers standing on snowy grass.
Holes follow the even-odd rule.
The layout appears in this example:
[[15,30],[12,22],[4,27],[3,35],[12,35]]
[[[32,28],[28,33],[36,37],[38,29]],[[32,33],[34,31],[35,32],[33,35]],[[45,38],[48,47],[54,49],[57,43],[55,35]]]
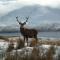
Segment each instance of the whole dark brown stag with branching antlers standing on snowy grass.
[[25,39],[27,41],[27,46],[28,46],[28,38],[35,38],[36,39],[36,43],[37,43],[37,30],[35,29],[28,29],[25,28],[24,25],[26,24],[26,22],[28,21],[29,17],[26,17],[26,21],[24,23],[19,22],[18,17],[16,17],[17,22],[20,25],[20,32],[22,34],[22,36],[24,37],[24,42]]

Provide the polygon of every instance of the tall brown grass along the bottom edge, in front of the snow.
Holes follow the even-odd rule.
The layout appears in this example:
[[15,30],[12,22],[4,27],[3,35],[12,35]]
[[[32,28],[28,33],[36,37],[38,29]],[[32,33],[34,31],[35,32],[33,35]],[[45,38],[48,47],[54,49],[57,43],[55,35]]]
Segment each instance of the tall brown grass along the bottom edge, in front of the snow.
[[51,46],[45,54],[43,51],[42,53],[39,50],[39,48],[34,47],[31,55],[27,54],[23,57],[18,55],[7,55],[7,58],[5,60],[53,60],[53,55],[55,54],[55,48]]

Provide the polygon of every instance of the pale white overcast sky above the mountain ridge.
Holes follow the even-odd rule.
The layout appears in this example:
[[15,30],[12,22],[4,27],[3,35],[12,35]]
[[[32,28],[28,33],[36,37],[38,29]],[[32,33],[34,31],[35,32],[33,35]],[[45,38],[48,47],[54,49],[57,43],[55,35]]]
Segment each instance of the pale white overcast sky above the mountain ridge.
[[0,0],[0,15],[2,16],[25,5],[34,4],[60,8],[60,0]]

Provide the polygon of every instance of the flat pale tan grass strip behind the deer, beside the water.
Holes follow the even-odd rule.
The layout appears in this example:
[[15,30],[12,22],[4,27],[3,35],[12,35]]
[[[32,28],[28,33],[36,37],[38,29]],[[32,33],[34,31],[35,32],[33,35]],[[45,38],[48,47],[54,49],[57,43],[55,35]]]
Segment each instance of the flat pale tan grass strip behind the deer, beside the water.
[[[0,41],[10,41],[12,40],[13,42],[17,42],[17,40],[19,39],[19,37],[16,37],[16,36],[0,36]],[[35,39],[32,39],[31,41],[34,41]],[[41,39],[39,38],[38,39],[38,44],[44,44],[44,45],[57,45],[57,46],[60,46],[60,40],[56,40],[56,39]]]

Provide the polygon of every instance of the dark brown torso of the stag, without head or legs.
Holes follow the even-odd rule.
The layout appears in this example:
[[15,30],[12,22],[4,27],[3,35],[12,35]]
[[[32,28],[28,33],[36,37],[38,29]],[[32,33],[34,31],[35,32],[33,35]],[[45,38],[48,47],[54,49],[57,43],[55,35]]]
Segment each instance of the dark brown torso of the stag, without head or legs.
[[37,31],[35,29],[27,29],[27,28],[20,28],[20,32],[26,38],[34,38],[37,35]]

